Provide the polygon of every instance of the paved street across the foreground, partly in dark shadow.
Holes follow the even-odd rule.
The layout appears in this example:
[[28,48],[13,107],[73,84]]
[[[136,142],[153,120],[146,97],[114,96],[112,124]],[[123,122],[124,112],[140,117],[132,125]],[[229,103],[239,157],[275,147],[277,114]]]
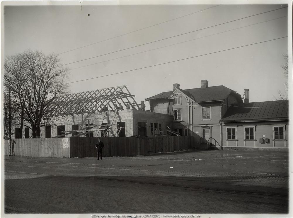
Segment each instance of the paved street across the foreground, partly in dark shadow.
[[7,159],[5,212],[288,212],[286,176],[192,172],[167,159]]

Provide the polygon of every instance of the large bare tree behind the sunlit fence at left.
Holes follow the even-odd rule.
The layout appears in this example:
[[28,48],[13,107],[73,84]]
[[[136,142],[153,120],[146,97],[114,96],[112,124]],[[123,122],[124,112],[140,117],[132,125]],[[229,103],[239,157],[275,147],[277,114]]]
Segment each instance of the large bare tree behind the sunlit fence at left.
[[4,64],[4,86],[11,91],[11,102],[18,114],[14,124],[29,123],[33,138],[47,124],[56,110],[54,100],[67,93],[64,83],[68,69],[59,66],[56,55],[26,51],[7,57]]

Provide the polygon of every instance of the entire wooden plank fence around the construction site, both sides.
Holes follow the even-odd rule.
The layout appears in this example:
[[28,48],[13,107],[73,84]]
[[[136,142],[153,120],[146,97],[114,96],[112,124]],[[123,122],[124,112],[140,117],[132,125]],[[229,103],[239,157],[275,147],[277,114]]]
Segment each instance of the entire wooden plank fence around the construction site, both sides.
[[[12,139],[14,155],[30,157],[96,157],[96,137]],[[64,141],[65,140],[65,141]],[[103,156],[136,156],[190,149],[191,136],[103,137]],[[4,140],[8,155],[8,140]]]

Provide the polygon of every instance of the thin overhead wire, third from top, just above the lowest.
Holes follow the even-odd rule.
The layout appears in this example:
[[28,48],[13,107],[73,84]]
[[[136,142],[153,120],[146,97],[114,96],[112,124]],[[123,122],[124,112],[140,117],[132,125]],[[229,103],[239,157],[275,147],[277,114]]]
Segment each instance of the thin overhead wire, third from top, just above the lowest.
[[[283,17],[280,17],[280,18],[285,18],[285,17],[288,17],[288,15],[287,16],[283,16]],[[258,23],[246,25],[246,26],[243,26],[243,27],[238,27],[238,28],[235,28],[235,29],[241,29],[241,28],[244,28],[244,27],[249,27],[249,26],[257,25],[257,24],[260,24],[260,23],[265,23],[265,22],[269,22],[269,21],[272,21],[272,20],[277,20],[277,19],[280,19],[280,18],[275,18],[275,19],[271,19],[271,20],[265,20],[265,21],[262,21],[262,22],[258,22]],[[185,42],[189,42],[189,41],[193,41],[193,40],[197,40],[197,39],[202,39],[202,38],[205,38],[205,37],[208,37],[208,36],[214,36],[214,35],[221,34],[221,33],[224,33],[224,32],[229,32],[229,31],[232,31],[232,30],[235,30],[235,29],[229,29],[229,30],[226,30],[226,31],[223,31],[223,32],[219,32],[219,33],[215,33],[215,34],[211,34],[211,35],[207,35],[207,36],[202,36],[202,37],[199,37],[199,38],[196,38],[196,39],[190,39],[190,40],[183,41],[183,42],[178,42],[178,43],[175,43],[175,44],[172,44],[172,45],[168,45],[168,46],[174,46],[174,45],[178,45],[180,43],[185,43]],[[123,58],[123,57],[129,57],[129,56],[132,56],[132,55],[137,55],[137,54],[145,53],[145,52],[148,52],[148,51],[157,50],[157,49],[160,49],[160,48],[166,48],[168,46],[154,48],[154,49],[150,49],[150,50],[146,50],[146,51],[134,53],[134,54],[131,54],[131,55],[125,55],[125,56],[122,56],[122,57],[117,57],[117,58],[113,58],[113,59],[110,59],[110,60],[101,61],[101,62],[94,63],[94,64],[87,64],[85,66],[72,68],[71,70],[79,69],[79,68],[82,68],[82,67],[88,67],[88,66],[95,65],[95,64],[100,64],[100,63],[107,62],[107,61],[111,61],[111,60],[117,60],[117,59],[120,59],[120,58]]]

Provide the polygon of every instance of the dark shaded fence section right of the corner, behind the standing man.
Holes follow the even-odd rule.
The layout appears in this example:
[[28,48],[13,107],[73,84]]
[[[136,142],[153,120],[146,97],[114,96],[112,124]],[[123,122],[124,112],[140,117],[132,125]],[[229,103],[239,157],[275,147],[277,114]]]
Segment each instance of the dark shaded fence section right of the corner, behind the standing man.
[[[70,157],[96,157],[98,138],[74,137],[69,139]],[[192,147],[191,136],[156,137],[103,137],[103,156],[136,156],[158,152],[173,152]]]

